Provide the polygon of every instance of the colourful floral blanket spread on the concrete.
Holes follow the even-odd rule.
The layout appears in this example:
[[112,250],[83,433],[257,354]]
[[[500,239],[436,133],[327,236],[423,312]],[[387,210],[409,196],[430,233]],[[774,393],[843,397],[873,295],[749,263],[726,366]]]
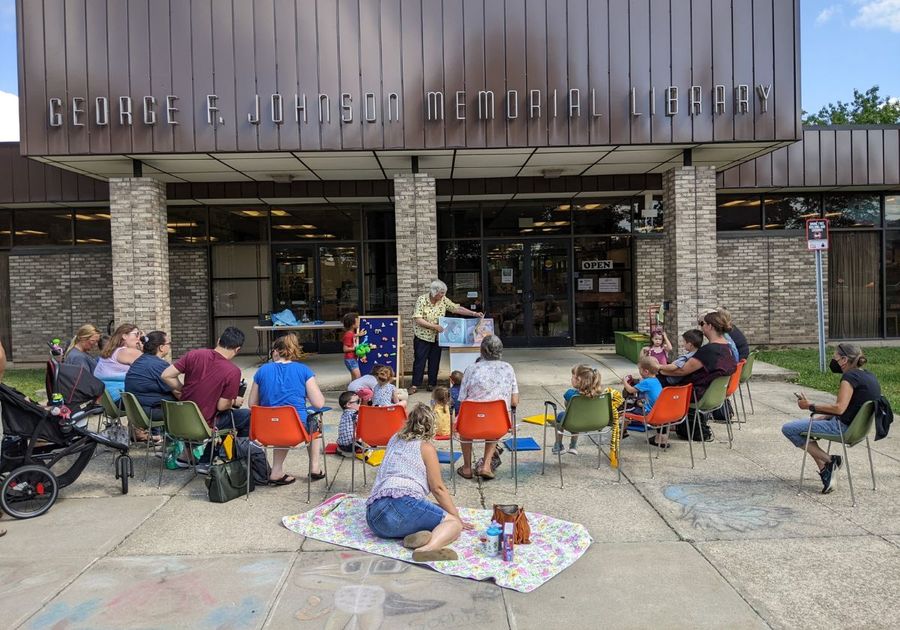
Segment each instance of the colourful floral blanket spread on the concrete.
[[[494,580],[498,586],[523,593],[570,566],[593,542],[583,525],[527,512],[531,544],[516,545],[514,561],[503,562],[499,556],[488,556],[479,539],[490,524],[491,512],[460,508],[459,514],[475,525],[451,545],[459,560],[425,564],[446,575]],[[412,562],[412,551],[404,549],[399,540],[378,538],[369,531],[365,498],[336,494],[309,512],[285,516],[282,522],[292,532],[316,540]]]

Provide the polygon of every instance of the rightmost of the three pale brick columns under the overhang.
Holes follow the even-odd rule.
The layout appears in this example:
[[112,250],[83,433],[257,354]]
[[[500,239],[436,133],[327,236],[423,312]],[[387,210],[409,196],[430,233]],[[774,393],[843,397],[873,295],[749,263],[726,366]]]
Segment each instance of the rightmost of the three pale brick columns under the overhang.
[[701,309],[716,308],[716,170],[679,166],[663,174],[666,332],[697,327]]

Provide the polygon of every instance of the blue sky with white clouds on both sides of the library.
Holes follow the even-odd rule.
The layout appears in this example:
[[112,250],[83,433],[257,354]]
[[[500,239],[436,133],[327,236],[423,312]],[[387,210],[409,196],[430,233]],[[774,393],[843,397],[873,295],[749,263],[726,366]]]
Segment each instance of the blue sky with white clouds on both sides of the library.
[[[801,0],[800,13],[804,110],[873,85],[900,97],[900,0]],[[0,141],[19,137],[16,73],[15,0],[0,0]]]

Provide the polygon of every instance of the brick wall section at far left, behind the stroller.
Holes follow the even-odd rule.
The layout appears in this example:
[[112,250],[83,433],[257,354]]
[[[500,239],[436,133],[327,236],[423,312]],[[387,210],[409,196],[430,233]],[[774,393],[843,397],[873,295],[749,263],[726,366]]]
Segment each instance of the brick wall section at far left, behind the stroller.
[[82,324],[104,333],[113,319],[108,250],[9,257],[12,355],[45,361],[47,342],[67,342]]

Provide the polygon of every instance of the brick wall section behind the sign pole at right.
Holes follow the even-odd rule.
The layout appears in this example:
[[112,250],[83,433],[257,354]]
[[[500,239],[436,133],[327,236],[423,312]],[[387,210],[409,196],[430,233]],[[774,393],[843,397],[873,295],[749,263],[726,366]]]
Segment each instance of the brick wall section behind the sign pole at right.
[[[816,342],[816,263],[803,236],[720,238],[717,257],[719,304],[751,343]],[[827,278],[827,256],[823,263]]]

